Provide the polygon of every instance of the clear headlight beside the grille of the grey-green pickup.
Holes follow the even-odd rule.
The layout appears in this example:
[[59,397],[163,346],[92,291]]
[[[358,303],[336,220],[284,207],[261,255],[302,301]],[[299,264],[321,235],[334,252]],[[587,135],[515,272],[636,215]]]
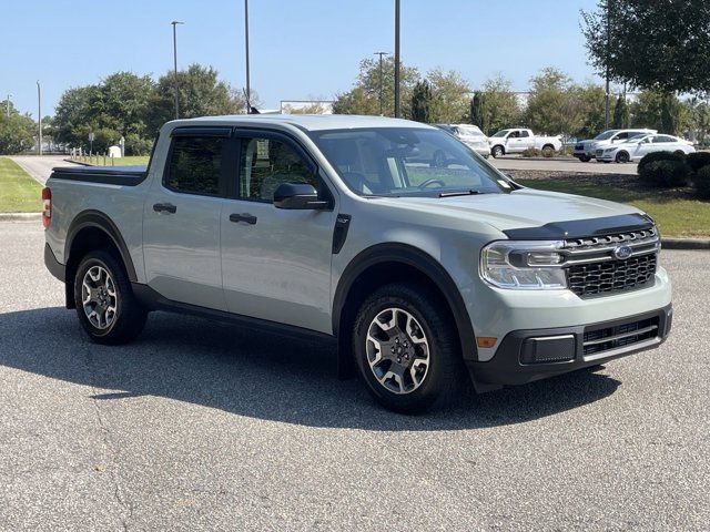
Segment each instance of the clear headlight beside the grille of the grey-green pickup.
[[555,290],[567,288],[559,253],[561,241],[498,241],[480,252],[480,276],[499,288]]

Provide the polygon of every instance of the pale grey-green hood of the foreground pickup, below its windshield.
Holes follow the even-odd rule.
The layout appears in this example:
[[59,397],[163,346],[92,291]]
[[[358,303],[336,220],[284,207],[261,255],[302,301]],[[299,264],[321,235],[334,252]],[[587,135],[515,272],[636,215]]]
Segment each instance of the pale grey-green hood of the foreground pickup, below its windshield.
[[485,223],[500,232],[559,222],[643,214],[636,207],[591,197],[523,188],[510,194],[454,197],[382,197],[377,203],[454,218]]

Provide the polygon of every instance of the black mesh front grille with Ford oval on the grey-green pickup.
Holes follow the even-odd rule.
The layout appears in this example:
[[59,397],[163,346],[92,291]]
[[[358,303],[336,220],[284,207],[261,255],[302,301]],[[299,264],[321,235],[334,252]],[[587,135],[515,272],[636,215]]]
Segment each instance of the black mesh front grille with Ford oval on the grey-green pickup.
[[[629,258],[616,257],[628,246]],[[565,242],[567,284],[579,297],[595,297],[652,286],[660,241],[655,228]]]

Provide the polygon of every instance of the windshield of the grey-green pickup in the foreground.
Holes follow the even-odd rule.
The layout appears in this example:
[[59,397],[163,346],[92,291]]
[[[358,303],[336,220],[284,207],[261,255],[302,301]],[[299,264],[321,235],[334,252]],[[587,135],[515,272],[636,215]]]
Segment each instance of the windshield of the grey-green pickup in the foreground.
[[310,135],[357,194],[438,196],[509,190],[497,170],[440,130],[372,127]]

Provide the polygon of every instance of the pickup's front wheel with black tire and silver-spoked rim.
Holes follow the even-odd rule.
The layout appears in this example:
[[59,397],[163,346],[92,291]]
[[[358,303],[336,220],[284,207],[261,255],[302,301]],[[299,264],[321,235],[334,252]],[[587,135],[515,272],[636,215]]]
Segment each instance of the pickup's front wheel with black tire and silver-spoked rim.
[[418,413],[460,396],[466,369],[452,323],[440,297],[410,285],[383,286],[365,300],[355,319],[353,354],[377,402]]

